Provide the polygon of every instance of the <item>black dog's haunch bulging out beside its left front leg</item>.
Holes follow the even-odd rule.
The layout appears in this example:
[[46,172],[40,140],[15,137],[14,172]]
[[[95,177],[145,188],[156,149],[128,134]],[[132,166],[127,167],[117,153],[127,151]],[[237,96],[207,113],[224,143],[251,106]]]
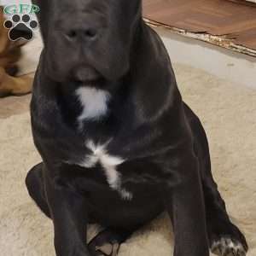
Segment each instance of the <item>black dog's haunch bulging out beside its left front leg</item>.
[[33,201],[35,201],[41,211],[50,218],[49,207],[45,198],[42,168],[43,163],[40,163],[28,172],[26,176],[26,188]]

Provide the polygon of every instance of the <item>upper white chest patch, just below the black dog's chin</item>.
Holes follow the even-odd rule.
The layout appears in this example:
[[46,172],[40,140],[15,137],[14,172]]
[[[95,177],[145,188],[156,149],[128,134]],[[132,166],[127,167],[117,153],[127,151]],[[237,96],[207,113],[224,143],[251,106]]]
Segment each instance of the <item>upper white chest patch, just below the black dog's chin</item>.
[[83,107],[83,111],[79,115],[80,122],[84,119],[99,119],[108,112],[108,100],[110,98],[108,91],[81,87],[75,93]]

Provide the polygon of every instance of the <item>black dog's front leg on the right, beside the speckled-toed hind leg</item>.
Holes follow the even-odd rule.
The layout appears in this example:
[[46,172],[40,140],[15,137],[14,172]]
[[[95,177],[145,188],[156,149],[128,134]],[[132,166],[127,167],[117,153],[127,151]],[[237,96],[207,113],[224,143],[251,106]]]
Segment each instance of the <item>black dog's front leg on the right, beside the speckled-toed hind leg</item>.
[[172,218],[174,256],[207,256],[206,216],[197,159],[193,153],[177,156],[169,165],[178,182],[166,182],[166,208]]

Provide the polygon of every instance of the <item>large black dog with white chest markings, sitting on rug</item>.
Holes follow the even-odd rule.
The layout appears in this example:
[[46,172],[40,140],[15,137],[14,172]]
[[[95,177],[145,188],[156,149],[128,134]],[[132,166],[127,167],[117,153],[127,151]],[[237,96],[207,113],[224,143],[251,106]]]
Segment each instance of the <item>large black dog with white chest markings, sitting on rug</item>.
[[[53,221],[56,255],[117,255],[164,211],[175,256],[246,255],[212,177],[206,133],[142,1],[33,3],[44,49],[32,134],[43,162],[26,187]],[[88,244],[87,224],[104,227]]]

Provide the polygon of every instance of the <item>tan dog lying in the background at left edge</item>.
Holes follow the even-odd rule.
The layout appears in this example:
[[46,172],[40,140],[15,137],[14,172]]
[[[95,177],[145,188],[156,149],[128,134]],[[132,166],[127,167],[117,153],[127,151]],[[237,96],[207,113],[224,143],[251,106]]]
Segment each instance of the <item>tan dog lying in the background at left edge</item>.
[[23,95],[32,90],[32,77],[15,77],[18,72],[17,62],[21,57],[23,40],[9,40],[9,30],[3,26],[3,7],[0,6],[0,96]]

